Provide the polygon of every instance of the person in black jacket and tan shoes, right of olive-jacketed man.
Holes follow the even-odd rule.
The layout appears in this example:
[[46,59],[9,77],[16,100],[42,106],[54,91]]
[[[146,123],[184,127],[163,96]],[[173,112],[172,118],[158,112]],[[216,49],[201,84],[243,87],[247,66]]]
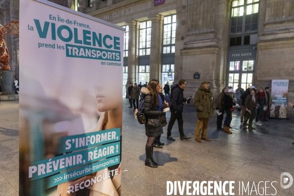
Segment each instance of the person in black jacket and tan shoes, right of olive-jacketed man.
[[234,93],[236,93],[233,89],[229,89],[227,93],[223,96],[223,109],[226,113],[224,123],[223,123],[223,132],[232,134],[230,131],[230,125],[232,122],[232,111],[235,110],[236,103],[234,102]]

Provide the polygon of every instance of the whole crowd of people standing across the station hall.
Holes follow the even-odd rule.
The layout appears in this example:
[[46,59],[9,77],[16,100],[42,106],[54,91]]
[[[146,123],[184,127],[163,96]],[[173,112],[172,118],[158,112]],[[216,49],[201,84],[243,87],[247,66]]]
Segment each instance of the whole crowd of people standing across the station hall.
[[[150,80],[149,83],[144,85],[142,85],[141,82],[139,85],[134,83],[134,87],[132,83],[129,84],[129,108],[134,107],[134,110],[138,108],[139,97],[143,98],[145,103],[145,131],[147,135],[146,166],[152,168],[157,168],[158,166],[153,159],[153,147],[162,148],[162,146],[164,146],[164,143],[160,142],[160,137],[163,133],[163,127],[166,126],[166,124],[168,124],[168,140],[175,141],[175,139],[172,138],[172,126],[176,120],[178,122],[180,140],[191,139],[191,137],[187,137],[184,134],[183,129],[183,102],[187,102],[191,99],[184,98],[183,91],[186,85],[187,81],[184,79],[181,79],[178,84],[172,85],[171,88],[167,83],[164,89],[160,82],[155,79]],[[219,96],[214,99],[209,86],[210,82],[202,82],[194,97],[194,106],[197,111],[197,124],[195,129],[196,142],[201,143],[201,140],[211,141],[206,134],[209,118],[213,117],[215,110],[217,111],[217,130],[228,134],[232,134],[230,130],[232,127],[230,125],[232,121],[232,112],[235,111],[235,109],[241,112],[240,128],[244,130],[255,130],[256,128],[253,127],[254,120],[254,124],[257,126],[261,126],[261,122],[268,122],[267,118],[271,105],[269,87],[265,89],[259,88],[257,90],[254,86],[249,86],[244,90],[241,88],[241,85],[238,85],[235,91],[232,87],[224,87]],[[166,97],[170,96],[169,100],[163,96],[163,90]],[[135,101],[137,105],[135,105]],[[294,107],[292,103],[289,103],[289,105]],[[166,121],[166,112],[164,111],[166,108],[169,108],[171,111],[169,123]],[[226,116],[223,122],[224,114],[226,114]]]

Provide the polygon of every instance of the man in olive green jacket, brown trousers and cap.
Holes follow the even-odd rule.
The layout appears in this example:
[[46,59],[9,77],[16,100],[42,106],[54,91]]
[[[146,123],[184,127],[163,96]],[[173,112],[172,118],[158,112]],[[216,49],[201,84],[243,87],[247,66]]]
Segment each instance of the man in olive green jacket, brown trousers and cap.
[[[202,82],[198,91],[195,93],[194,105],[197,108],[197,125],[195,130],[195,140],[201,142],[201,140],[210,141],[206,137],[207,126],[209,118],[213,117],[215,108],[214,99],[209,88],[210,82]],[[199,138],[200,132],[201,140]]]

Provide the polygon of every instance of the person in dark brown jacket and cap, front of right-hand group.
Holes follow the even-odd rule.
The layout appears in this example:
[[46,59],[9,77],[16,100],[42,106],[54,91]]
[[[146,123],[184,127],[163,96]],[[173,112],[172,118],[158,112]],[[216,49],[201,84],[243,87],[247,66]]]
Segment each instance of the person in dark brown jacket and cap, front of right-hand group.
[[245,98],[244,104],[246,112],[244,116],[243,129],[247,129],[247,121],[249,120],[248,129],[255,130],[256,128],[252,126],[252,123],[257,115],[256,106],[259,106],[257,102],[256,89],[250,89],[250,94]]

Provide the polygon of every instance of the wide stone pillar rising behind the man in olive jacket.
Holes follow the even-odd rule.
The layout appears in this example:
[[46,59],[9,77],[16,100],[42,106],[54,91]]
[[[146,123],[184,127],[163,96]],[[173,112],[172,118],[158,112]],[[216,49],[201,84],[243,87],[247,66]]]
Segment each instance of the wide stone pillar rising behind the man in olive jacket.
[[[210,81],[213,94],[220,90],[220,47],[217,37],[216,20],[218,0],[187,0],[186,18],[180,24],[186,28],[182,55],[182,78],[187,86],[184,96],[194,97],[202,81]],[[228,11],[227,11],[228,12]],[[194,73],[200,73],[200,79],[194,79]],[[215,93],[217,92],[217,93]]]

